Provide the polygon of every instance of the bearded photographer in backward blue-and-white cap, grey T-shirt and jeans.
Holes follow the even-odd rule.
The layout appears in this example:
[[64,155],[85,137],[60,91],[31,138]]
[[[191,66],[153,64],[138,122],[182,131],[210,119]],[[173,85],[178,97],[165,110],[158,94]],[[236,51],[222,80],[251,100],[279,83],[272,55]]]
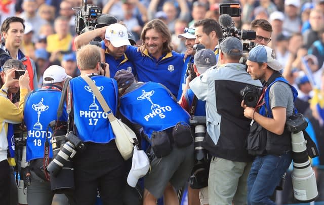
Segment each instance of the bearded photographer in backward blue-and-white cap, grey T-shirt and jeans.
[[264,130],[260,132],[264,135],[259,139],[259,149],[250,143],[252,135],[248,137],[249,152],[252,150],[256,155],[248,177],[248,204],[275,204],[270,196],[292,162],[291,133],[285,129],[285,124],[286,119],[293,115],[297,91],[281,77],[281,65],[271,48],[253,48],[247,66],[247,72],[253,79],[265,81],[265,92],[260,98],[264,103],[260,110],[247,106],[245,100],[241,102],[244,115],[252,119],[251,131],[257,132],[258,128]]

